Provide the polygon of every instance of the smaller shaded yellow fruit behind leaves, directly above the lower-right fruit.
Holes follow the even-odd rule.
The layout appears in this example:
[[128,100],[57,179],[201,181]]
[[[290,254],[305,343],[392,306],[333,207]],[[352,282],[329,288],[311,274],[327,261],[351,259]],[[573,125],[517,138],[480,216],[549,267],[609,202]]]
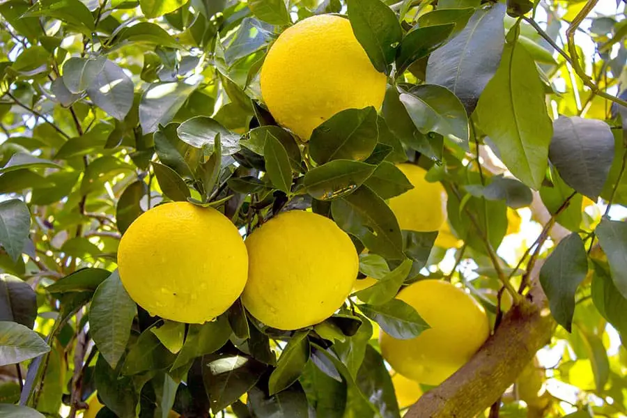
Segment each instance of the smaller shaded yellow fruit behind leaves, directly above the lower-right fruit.
[[415,164],[397,164],[413,189],[389,199],[389,207],[401,229],[438,231],[447,220],[447,192],[442,183],[429,183],[426,171]]

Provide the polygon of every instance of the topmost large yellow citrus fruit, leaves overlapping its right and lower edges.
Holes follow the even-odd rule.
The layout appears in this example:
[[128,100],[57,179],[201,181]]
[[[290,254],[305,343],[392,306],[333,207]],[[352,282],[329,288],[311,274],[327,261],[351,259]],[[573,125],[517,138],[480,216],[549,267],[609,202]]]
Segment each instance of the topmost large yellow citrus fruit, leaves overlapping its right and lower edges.
[[378,109],[386,84],[350,22],[334,15],[308,17],[286,29],[261,67],[261,95],[270,113],[304,141],[339,111]]

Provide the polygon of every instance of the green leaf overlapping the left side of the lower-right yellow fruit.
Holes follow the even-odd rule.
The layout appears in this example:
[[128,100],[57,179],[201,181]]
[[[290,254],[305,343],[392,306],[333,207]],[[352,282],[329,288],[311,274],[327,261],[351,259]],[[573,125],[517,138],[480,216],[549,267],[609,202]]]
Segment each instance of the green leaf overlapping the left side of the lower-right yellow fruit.
[[412,339],[429,328],[416,309],[399,299],[381,305],[361,304],[359,309],[396,339]]

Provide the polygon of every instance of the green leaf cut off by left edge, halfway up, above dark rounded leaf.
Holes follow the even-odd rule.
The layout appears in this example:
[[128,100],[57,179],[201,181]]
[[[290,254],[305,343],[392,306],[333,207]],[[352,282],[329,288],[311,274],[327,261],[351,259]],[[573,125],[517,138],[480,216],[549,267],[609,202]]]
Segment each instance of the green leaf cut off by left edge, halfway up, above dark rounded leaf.
[[31,212],[26,203],[19,199],[0,203],[0,245],[13,261],[22,255],[30,227]]

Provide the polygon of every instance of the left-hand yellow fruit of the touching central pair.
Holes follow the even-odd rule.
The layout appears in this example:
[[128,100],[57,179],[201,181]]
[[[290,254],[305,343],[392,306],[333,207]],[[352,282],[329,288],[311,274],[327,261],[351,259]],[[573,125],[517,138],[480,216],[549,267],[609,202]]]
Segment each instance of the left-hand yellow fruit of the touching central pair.
[[171,202],[148,210],[127,229],[118,271],[130,297],[151,315],[204,323],[242,293],[248,256],[238,229],[222,213]]

